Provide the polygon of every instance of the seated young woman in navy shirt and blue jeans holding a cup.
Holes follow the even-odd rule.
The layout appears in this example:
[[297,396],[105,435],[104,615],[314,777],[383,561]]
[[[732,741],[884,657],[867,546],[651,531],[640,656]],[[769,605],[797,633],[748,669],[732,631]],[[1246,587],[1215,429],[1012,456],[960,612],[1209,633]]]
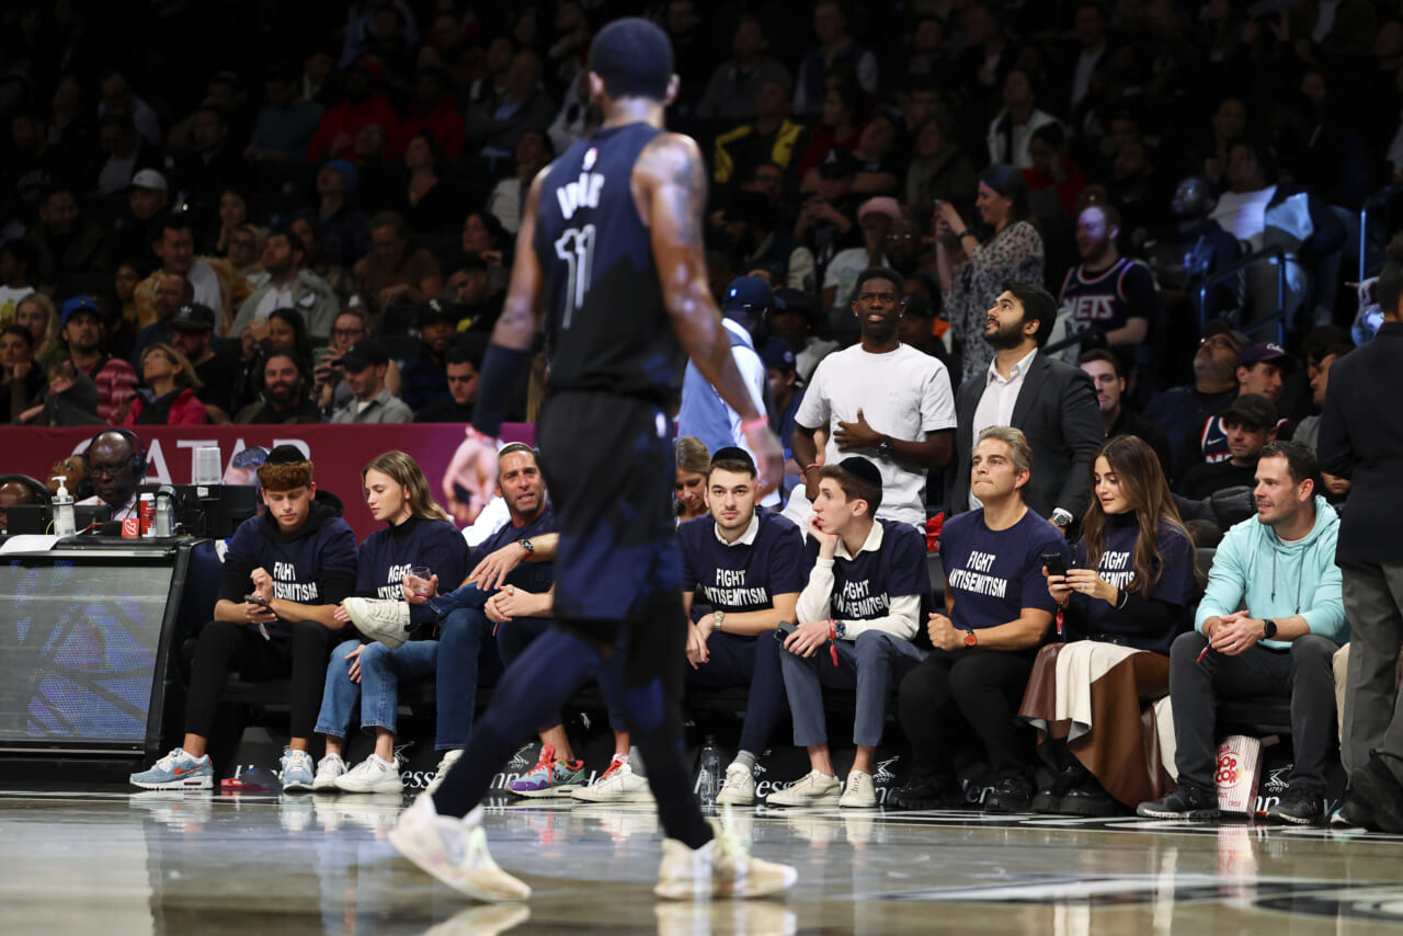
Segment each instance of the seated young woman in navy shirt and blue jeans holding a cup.
[[[428,481],[418,463],[404,452],[386,452],[361,472],[365,502],[375,519],[387,523],[366,536],[356,554],[356,595],[400,601],[405,578],[460,582],[467,575],[467,543],[448,514],[429,498]],[[422,570],[428,571],[422,571]],[[427,584],[427,582],[425,582]],[[345,608],[337,619],[349,622]],[[355,633],[354,629],[348,629]],[[362,643],[359,636],[331,651],[327,683],[317,716],[317,734],[327,738],[327,754],[317,763],[313,790],[344,793],[398,793],[403,789],[394,762],[394,716],[398,683],[435,671],[436,640],[410,640],[391,650],[382,643]],[[347,769],[341,752],[356,699],[361,727],[375,733],[375,752]]]

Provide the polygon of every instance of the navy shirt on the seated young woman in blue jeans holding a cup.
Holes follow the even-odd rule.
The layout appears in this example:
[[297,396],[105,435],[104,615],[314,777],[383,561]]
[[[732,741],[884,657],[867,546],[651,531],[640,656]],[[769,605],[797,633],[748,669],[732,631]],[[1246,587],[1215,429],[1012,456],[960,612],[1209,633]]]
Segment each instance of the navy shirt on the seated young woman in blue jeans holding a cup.
[[365,537],[356,554],[356,595],[400,601],[404,577],[415,566],[428,566],[443,591],[467,577],[467,543],[448,521],[411,516]]

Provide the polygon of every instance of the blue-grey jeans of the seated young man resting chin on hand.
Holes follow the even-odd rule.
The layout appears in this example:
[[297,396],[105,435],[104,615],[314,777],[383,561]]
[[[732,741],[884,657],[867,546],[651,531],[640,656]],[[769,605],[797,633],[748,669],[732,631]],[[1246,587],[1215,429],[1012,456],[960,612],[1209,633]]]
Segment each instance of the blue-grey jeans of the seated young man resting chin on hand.
[[887,695],[909,669],[926,658],[909,640],[884,630],[864,630],[856,640],[839,640],[838,665],[828,644],[804,658],[790,651],[780,654],[784,690],[794,714],[794,744],[807,748],[828,742],[824,724],[824,690],[857,689],[857,714],[853,718],[853,744],[877,747],[887,721]]

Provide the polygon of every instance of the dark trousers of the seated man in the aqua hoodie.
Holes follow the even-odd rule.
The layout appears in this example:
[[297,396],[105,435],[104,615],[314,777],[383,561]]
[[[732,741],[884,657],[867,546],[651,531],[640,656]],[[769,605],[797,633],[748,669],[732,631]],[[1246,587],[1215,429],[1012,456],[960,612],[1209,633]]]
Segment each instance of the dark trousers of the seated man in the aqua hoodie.
[[1289,786],[1324,796],[1324,756],[1336,731],[1334,669],[1338,646],[1329,637],[1305,634],[1289,650],[1256,644],[1235,657],[1198,654],[1208,637],[1180,634],[1169,651],[1169,697],[1174,704],[1174,763],[1180,782],[1214,789],[1218,762],[1215,709],[1219,697],[1282,696],[1291,699],[1291,747],[1295,763]]

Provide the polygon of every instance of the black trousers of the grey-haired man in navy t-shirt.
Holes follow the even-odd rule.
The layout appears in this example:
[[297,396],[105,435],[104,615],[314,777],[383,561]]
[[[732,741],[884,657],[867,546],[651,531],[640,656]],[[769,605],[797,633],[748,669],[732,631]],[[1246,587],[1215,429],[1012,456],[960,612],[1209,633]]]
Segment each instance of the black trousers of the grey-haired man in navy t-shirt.
[[993,779],[1031,770],[1033,731],[1017,721],[1033,672],[1031,650],[932,650],[901,682],[901,728],[920,773],[948,776],[961,740],[974,733]]

